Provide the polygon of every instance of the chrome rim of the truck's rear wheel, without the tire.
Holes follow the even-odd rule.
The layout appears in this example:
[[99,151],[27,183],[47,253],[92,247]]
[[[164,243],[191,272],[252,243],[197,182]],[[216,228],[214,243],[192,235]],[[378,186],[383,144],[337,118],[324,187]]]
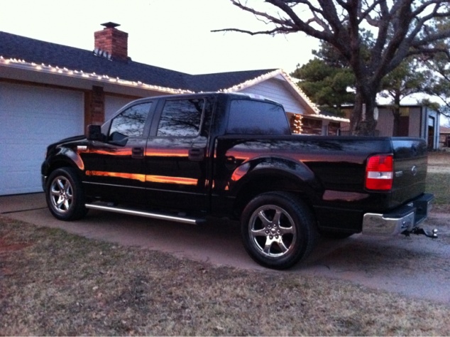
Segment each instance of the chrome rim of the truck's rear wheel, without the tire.
[[251,215],[248,230],[256,250],[266,257],[289,254],[297,238],[294,220],[277,205],[257,208]]

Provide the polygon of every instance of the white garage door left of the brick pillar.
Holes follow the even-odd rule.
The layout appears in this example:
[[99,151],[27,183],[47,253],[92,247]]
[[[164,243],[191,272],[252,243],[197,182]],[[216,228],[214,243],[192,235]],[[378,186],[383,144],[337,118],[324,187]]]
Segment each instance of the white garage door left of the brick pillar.
[[54,141],[84,133],[82,92],[0,83],[0,196],[41,192]]

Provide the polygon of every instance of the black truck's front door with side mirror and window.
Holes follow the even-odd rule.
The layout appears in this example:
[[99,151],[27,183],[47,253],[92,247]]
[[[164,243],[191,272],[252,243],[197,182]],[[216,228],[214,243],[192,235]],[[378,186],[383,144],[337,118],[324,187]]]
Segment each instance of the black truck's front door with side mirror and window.
[[126,107],[109,125],[105,141],[92,141],[85,156],[89,194],[111,200],[145,197],[145,149],[153,102]]

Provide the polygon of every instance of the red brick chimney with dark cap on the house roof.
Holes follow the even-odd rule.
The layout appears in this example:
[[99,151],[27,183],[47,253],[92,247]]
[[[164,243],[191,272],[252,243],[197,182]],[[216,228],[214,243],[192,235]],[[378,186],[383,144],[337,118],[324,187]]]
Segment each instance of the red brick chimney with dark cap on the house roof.
[[128,33],[116,29],[120,25],[114,22],[102,23],[101,26],[104,26],[103,30],[94,33],[96,55],[109,55],[113,60],[128,60]]

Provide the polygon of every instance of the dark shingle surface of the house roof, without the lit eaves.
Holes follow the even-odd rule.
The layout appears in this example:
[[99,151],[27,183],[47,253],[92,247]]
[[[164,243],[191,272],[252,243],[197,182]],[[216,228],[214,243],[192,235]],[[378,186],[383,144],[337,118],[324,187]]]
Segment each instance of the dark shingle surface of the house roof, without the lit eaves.
[[119,77],[124,80],[145,82],[160,87],[192,92],[224,90],[275,69],[248,70],[231,73],[190,75],[144,63],[114,60],[95,55],[93,51],[62,46],[0,31],[0,55],[3,58],[26,60],[38,65],[78,70]]

